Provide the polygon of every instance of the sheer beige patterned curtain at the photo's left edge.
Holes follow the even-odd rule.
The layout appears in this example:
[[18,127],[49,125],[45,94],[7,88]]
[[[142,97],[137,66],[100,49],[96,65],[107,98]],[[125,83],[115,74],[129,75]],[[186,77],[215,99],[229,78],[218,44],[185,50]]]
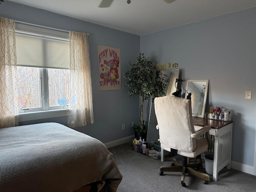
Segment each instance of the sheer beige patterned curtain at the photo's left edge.
[[18,125],[15,21],[0,17],[0,128]]

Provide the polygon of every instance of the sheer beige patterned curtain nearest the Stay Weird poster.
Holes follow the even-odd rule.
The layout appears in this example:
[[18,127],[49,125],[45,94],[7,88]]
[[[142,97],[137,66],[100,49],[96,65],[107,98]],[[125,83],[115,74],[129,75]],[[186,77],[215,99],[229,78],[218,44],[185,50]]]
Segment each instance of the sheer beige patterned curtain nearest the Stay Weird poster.
[[89,43],[85,33],[70,32],[69,98],[68,126],[94,123]]

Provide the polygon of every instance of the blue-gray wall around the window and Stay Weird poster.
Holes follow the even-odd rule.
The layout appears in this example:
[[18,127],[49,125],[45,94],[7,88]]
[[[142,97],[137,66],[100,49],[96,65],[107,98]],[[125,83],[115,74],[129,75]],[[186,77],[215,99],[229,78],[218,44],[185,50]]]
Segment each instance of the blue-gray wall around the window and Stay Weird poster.
[[[104,143],[134,134],[131,127],[132,122],[138,123],[139,97],[129,100],[128,89],[124,88],[126,80],[123,74],[130,68],[128,61],[136,61],[140,52],[140,36],[7,1],[0,5],[0,16],[41,26],[88,33],[94,124],[76,128],[76,130]],[[99,91],[98,45],[121,49],[121,90]],[[59,122],[66,125],[67,117],[21,122],[20,125],[39,122]],[[122,130],[122,124],[126,124],[125,130]]]

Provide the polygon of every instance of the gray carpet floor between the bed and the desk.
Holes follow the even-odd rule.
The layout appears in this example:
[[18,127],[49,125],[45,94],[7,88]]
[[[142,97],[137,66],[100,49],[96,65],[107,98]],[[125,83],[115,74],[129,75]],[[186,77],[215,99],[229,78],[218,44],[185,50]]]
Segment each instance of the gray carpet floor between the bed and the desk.
[[180,172],[164,172],[160,176],[160,166],[170,166],[172,158],[181,160],[174,155],[167,157],[165,162],[152,159],[130,149],[130,143],[109,148],[114,155],[116,164],[123,175],[118,192],[255,192],[256,176],[234,169],[222,169],[218,174],[218,182],[203,184],[203,180],[186,174],[186,187],[180,184]]

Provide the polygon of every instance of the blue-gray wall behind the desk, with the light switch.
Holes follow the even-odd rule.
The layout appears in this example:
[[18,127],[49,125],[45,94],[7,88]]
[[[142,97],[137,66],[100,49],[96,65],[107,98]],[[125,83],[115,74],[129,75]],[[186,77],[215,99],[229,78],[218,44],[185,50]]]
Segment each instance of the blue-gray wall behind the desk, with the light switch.
[[141,36],[140,51],[160,64],[178,62],[182,90],[186,80],[209,79],[206,111],[231,110],[232,160],[254,166],[256,8]]

